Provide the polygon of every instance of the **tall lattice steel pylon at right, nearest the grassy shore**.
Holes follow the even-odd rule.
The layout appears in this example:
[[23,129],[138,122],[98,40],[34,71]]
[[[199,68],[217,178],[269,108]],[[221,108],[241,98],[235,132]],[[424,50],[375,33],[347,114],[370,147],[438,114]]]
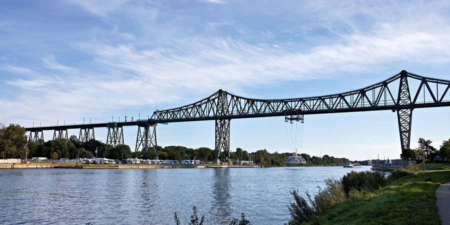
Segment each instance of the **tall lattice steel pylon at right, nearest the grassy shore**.
[[401,151],[403,151],[404,149],[409,148],[409,144],[411,143],[412,109],[414,109],[411,105],[408,76],[405,70],[400,72],[397,105],[410,105],[409,108],[396,108],[398,129],[400,131]]

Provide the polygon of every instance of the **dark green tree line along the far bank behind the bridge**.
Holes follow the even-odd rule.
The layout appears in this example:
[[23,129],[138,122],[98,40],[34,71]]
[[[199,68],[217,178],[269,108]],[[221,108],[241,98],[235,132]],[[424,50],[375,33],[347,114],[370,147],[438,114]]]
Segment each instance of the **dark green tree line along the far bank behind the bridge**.
[[[26,145],[26,147],[25,147]],[[92,158],[106,157],[111,159],[124,159],[138,157],[142,159],[199,159],[207,162],[212,161],[215,151],[208,147],[188,148],[185,146],[156,146],[156,149],[148,148],[145,154],[141,151],[136,153],[131,151],[129,145],[120,144],[115,147],[107,145],[101,140],[89,140],[80,142],[75,135],[69,139],[57,138],[55,140],[32,142],[27,141],[25,128],[19,125],[10,124],[3,126],[0,124],[0,158],[21,158],[47,157],[49,159],[59,158]],[[242,148],[230,151],[229,158],[233,160],[246,160],[261,163],[264,166],[281,166],[284,159],[291,153],[270,153],[266,149],[248,152]],[[348,161],[347,158],[336,158],[323,155],[322,157],[300,154],[307,162],[313,165],[341,165]],[[225,153],[220,152],[220,160],[225,160]]]

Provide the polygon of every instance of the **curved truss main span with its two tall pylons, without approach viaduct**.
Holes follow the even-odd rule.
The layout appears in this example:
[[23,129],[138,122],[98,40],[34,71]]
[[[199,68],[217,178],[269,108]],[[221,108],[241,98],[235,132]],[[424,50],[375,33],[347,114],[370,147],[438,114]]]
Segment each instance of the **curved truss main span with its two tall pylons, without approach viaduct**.
[[[411,87],[408,80],[420,82]],[[398,85],[396,83],[399,83]],[[398,89],[397,89],[398,88]],[[417,88],[417,89],[415,89]],[[386,80],[347,92],[322,96],[254,99],[218,90],[212,95],[185,106],[155,111],[154,122],[216,120],[216,156],[220,154],[222,119],[286,116],[299,111],[301,115],[337,112],[392,110],[397,111],[401,149],[409,147],[412,110],[423,107],[450,106],[450,80],[417,75],[402,70]],[[423,99],[419,97],[423,91]],[[425,100],[425,94],[431,100]],[[300,117],[297,118],[301,120]],[[223,142],[224,140],[221,140]]]

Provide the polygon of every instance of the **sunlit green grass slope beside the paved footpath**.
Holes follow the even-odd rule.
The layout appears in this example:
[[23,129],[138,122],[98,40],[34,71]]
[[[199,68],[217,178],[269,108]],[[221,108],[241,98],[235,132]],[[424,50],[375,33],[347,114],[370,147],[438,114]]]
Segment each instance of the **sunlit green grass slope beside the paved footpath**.
[[319,224],[441,224],[437,187],[450,181],[450,170],[427,171],[391,181],[366,197],[337,205]]

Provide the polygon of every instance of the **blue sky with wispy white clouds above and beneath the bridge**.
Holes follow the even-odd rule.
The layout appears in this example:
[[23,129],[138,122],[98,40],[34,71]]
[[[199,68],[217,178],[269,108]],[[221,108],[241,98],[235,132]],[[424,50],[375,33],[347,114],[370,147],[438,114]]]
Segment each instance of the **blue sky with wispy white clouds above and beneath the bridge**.
[[[123,120],[221,88],[286,98],[356,89],[402,69],[450,79],[448,1],[0,1],[0,122]],[[450,137],[449,108],[416,109],[419,137]],[[126,127],[133,148],[136,127]],[[79,130],[70,130],[77,134]],[[95,130],[106,139],[106,128]],[[301,151],[397,158],[391,111],[305,116]],[[214,122],[157,126],[159,145],[214,145]],[[231,121],[231,148],[285,152],[282,117]],[[50,138],[51,132],[44,137]]]

